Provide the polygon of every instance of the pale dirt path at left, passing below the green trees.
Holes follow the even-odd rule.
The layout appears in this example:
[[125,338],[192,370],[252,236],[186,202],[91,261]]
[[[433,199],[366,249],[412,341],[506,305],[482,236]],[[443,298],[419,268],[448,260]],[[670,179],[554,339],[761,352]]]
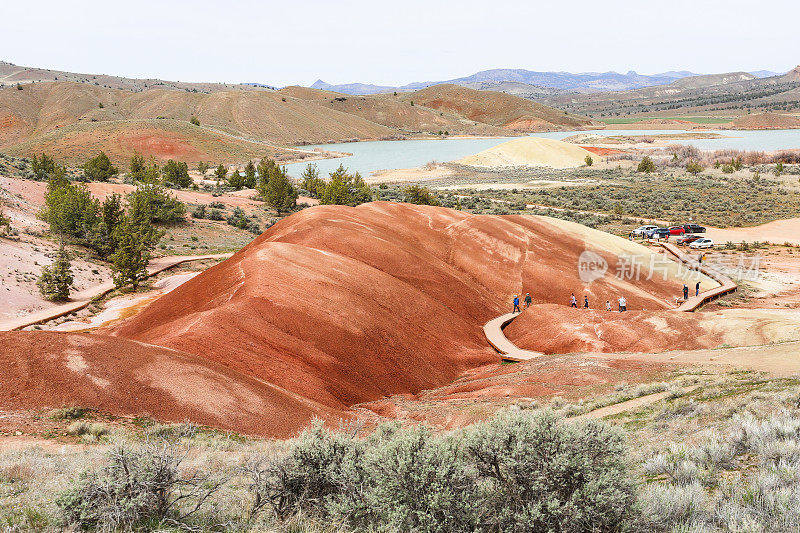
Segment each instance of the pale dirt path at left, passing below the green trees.
[[[147,267],[147,275],[153,276],[164,270],[168,270],[174,266],[186,263],[188,261],[202,261],[206,259],[227,259],[232,254],[212,254],[212,255],[176,255],[167,257],[157,257],[150,261]],[[88,306],[93,298],[104,296],[114,290],[114,283],[108,281],[100,285],[95,285],[86,290],[73,294],[69,302],[42,309],[23,317],[16,317],[0,322],[0,331],[13,331],[23,329],[35,324],[41,324],[54,318],[59,318],[69,313],[79,311]]]

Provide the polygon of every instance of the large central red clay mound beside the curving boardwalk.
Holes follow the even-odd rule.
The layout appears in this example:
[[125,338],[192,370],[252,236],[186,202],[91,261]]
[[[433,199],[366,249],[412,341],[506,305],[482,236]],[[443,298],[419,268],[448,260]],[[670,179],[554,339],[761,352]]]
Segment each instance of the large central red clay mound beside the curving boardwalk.
[[[385,202],[314,207],[113,334],[203,356],[333,409],[418,393],[497,361],[481,325],[513,293],[525,287],[563,304],[583,288],[585,243],[558,224]],[[613,270],[616,255],[600,253]],[[651,309],[677,291],[639,285],[612,276],[591,291],[628,289],[630,306]]]

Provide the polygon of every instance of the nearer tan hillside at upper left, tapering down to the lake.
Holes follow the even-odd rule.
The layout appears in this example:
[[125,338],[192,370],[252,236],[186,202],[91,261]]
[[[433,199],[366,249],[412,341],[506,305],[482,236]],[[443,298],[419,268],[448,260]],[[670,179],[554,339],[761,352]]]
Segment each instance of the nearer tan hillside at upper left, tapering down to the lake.
[[[166,129],[169,135],[177,135],[181,143],[198,148],[195,157],[187,160],[241,161],[253,151],[263,155],[264,149],[254,150],[252,142],[241,146],[242,140],[228,138],[223,140],[223,146],[216,146],[211,137],[220,135],[191,127],[188,121],[192,116],[198,117],[204,126],[247,140],[281,145],[395,134],[394,130],[361,117],[271,91],[200,94],[151,89],[135,93],[56,82],[29,85],[22,91],[13,87],[0,90],[0,149],[20,155],[48,149],[80,159],[73,150],[85,149],[80,143],[70,141],[71,132],[77,129],[92,139],[92,150],[104,149],[109,155],[127,158],[132,149],[119,142],[116,133],[120,129],[133,132],[144,124],[148,128]],[[163,118],[172,120],[154,122]],[[170,125],[164,127],[164,124]],[[60,131],[64,128],[67,133]],[[157,144],[146,144],[140,151],[162,158],[163,150]]]

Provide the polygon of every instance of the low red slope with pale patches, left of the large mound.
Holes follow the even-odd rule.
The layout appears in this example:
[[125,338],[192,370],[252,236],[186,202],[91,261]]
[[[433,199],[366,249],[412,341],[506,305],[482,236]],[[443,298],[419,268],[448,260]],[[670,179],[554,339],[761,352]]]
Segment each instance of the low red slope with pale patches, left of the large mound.
[[298,418],[337,415],[207,359],[100,335],[1,332],[0,368],[4,410],[85,406],[284,437]]

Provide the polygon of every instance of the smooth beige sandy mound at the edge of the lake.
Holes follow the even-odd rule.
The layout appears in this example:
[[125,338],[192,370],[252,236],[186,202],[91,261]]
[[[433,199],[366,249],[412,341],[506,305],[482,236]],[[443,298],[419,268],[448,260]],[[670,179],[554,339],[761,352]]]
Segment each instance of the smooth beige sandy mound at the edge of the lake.
[[574,144],[541,137],[522,137],[459,159],[456,163],[476,167],[575,168],[585,164],[587,155],[592,154]]

